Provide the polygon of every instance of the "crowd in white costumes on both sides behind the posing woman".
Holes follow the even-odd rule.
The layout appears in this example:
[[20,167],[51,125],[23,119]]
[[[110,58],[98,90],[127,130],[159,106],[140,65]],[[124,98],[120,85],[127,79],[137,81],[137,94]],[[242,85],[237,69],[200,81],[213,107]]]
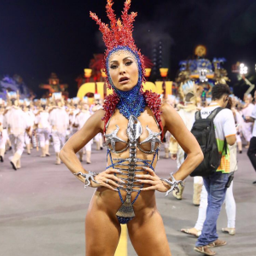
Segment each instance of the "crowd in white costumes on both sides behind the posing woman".
[[[174,96],[166,102],[177,110],[190,131],[195,121],[195,112],[209,105],[210,102],[201,102],[198,98],[196,99],[193,83],[190,84],[190,88],[187,86],[183,93],[187,98],[184,103],[179,103],[179,97]],[[19,99],[17,92],[9,92],[8,95],[7,101],[0,98],[0,161],[3,161],[4,153],[12,148],[14,156],[11,162],[16,169],[20,168],[20,156],[24,149],[27,154],[31,154],[31,148],[40,148],[41,157],[49,156],[49,141],[55,149],[55,163],[60,164],[58,153],[67,138],[80,130],[91,114],[102,108],[102,100],[98,97],[92,104],[89,104],[87,97],[82,100],[78,97],[64,100],[61,93],[54,93],[49,99],[41,98],[34,101]],[[256,134],[253,134],[255,133],[253,120],[249,119],[253,113],[254,100],[249,94],[244,96],[243,101],[231,95],[230,101],[232,101],[230,102],[231,110],[236,121],[236,146],[239,154],[242,154],[243,149],[247,151],[249,148],[251,139],[256,137]],[[246,145],[242,146],[241,139]],[[102,149],[101,133],[97,134],[93,141],[96,143],[97,150]],[[88,164],[93,141],[79,151],[79,159],[83,161],[83,154],[86,154]],[[182,164],[180,160],[183,159],[182,148],[169,132],[166,133],[165,141],[165,158],[171,157],[172,160],[177,160],[177,167],[179,167]],[[252,155],[251,150],[248,150],[249,157]],[[254,163],[253,158],[250,159]],[[256,167],[255,164],[253,166]],[[200,193],[197,191],[201,191],[201,179],[195,178],[195,187],[198,189],[195,189],[194,204],[199,205]],[[182,199],[182,191],[183,188],[180,189],[178,195],[175,195],[177,199]]]

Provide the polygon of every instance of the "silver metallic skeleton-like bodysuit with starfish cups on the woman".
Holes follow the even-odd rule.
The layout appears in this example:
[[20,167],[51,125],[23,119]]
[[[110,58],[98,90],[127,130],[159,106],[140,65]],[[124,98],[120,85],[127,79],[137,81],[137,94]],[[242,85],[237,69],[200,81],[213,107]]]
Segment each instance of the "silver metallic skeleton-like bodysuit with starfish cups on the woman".
[[[108,121],[108,124],[109,124],[109,121]],[[107,127],[108,127],[108,125],[107,125]],[[143,127],[142,127],[140,121],[134,115],[131,115],[129,118],[127,130],[126,130],[129,141],[128,141],[128,143],[126,143],[124,140],[117,137],[117,133],[119,131],[119,126],[116,125],[116,127],[117,128],[112,133],[105,135],[106,145],[108,148],[108,155],[111,160],[111,165],[108,166],[107,169],[111,168],[111,167],[115,167],[115,166],[121,166],[121,168],[117,167],[117,169],[119,169],[120,171],[123,172],[122,175],[127,176],[127,177],[120,177],[120,179],[125,180],[126,188],[119,187],[119,189],[124,189],[127,194],[126,194],[125,200],[123,200],[122,195],[119,190],[119,197],[120,197],[120,200],[122,201],[122,206],[119,208],[118,212],[116,213],[116,216],[119,219],[119,223],[127,224],[132,218],[135,217],[135,213],[133,211],[132,205],[137,200],[137,197],[141,192],[140,189],[143,188],[143,185],[135,184],[136,183],[136,180],[135,180],[136,172],[143,172],[144,171],[143,167],[149,167],[154,170],[152,165],[154,163],[155,156],[158,154],[158,151],[160,148],[161,141],[160,141],[159,137],[160,137],[161,132],[151,131],[147,126],[146,129],[148,131],[148,137],[142,143],[139,143],[138,139],[143,133]],[[117,151],[115,149],[115,143],[125,143],[126,146],[124,149]],[[149,151],[141,148],[141,145],[144,143],[151,143],[151,149]],[[110,144],[111,144],[111,148],[109,147]],[[129,158],[126,158],[126,159],[113,159],[112,158],[111,153],[119,154],[119,153],[124,152],[128,148],[129,148],[129,153],[130,153]],[[139,148],[145,154],[154,154],[153,160],[143,160],[143,159],[137,158],[137,155],[136,155],[137,148]],[[107,158],[108,158],[108,155],[107,155]],[[113,163],[113,160],[116,160],[117,162]],[[127,163],[125,163],[125,162],[127,162]],[[119,183],[119,184],[121,184],[121,183]],[[123,184],[121,184],[121,185],[123,185]],[[131,202],[131,193],[132,192],[137,192],[137,196],[134,199],[134,201]]]

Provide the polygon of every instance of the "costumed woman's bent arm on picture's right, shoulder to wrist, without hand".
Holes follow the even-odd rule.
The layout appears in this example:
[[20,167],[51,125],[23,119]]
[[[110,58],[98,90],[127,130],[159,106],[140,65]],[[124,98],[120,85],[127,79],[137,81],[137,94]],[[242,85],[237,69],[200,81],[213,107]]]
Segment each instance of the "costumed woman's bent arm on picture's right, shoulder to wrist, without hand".
[[183,120],[174,108],[168,104],[164,104],[161,111],[164,129],[171,132],[173,137],[176,138],[177,143],[188,155],[182,166],[180,166],[174,175],[177,180],[183,180],[200,165],[203,160],[203,154],[195,137],[184,125]]

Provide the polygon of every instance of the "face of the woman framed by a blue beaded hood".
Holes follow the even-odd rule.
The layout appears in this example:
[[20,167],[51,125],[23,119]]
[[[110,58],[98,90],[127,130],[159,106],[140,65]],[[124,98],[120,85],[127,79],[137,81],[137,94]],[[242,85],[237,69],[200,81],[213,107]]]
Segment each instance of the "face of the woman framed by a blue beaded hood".
[[110,56],[108,70],[113,85],[118,90],[131,90],[138,81],[138,67],[134,55],[125,50],[119,50]]

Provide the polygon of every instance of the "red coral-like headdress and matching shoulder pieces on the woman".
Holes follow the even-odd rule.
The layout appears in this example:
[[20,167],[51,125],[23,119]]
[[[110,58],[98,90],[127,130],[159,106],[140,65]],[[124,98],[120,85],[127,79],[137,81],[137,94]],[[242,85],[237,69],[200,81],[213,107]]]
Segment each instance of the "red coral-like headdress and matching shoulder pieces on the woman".
[[[106,9],[108,14],[108,19],[110,20],[110,27],[108,26],[108,24],[103,23],[102,20],[99,19],[96,14],[90,12],[90,17],[93,20],[96,20],[96,23],[100,26],[100,31],[102,32],[102,35],[103,35],[103,41],[107,47],[105,51],[104,60],[103,60],[103,67],[105,69],[105,73],[108,75],[107,59],[108,59],[109,53],[115,48],[124,46],[124,47],[130,48],[132,52],[137,54],[137,57],[141,62],[141,70],[142,70],[142,76],[143,76],[142,82],[143,82],[145,81],[144,58],[140,50],[137,49],[134,39],[132,38],[133,22],[135,20],[135,17],[137,16],[137,13],[131,12],[131,15],[128,14],[128,11],[131,7],[131,0],[125,0],[125,8],[121,15],[122,20],[119,20],[119,19],[116,20],[116,15],[114,14],[112,9],[113,1],[112,0],[107,0],[107,1],[108,3],[106,6]],[[107,79],[107,86],[109,89],[111,88],[109,78]],[[142,86],[143,84],[141,84],[141,88]],[[163,125],[160,119],[160,106],[161,106],[160,95],[153,93],[151,91],[146,91],[143,93],[143,96],[145,97],[148,108],[151,109],[155,119],[160,125],[160,130],[162,131],[161,139],[163,139],[164,138]],[[107,96],[107,98],[105,99],[105,102],[103,105],[103,109],[105,110],[105,116],[103,117],[104,133],[106,132],[106,125],[108,123],[108,120],[113,115],[114,110],[118,103],[119,103],[119,96],[114,91],[112,95]]]

